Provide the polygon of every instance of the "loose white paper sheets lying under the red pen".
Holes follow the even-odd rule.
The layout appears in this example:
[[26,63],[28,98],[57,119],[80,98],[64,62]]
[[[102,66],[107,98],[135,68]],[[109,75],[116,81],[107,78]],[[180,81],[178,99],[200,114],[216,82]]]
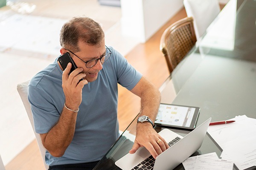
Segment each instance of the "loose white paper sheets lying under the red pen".
[[232,160],[239,170],[256,166],[256,119],[236,116],[236,122],[209,126],[207,132],[223,150],[222,159]]

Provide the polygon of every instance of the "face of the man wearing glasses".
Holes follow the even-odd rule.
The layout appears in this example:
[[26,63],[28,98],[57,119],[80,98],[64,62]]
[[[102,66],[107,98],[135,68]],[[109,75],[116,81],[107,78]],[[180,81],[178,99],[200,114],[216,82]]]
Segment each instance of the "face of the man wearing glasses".
[[87,68],[84,62],[87,62],[91,59],[98,59],[104,56],[106,54],[105,41],[102,40],[100,45],[93,46],[87,45],[86,43],[79,41],[78,46],[80,51],[74,54],[76,54],[80,59],[71,53],[70,56],[73,58],[77,67],[81,67],[84,69],[83,73],[86,74],[86,77],[84,77],[84,79],[86,79],[88,82],[93,82],[97,79],[99,71],[102,70],[102,63],[98,60],[96,65],[94,65],[92,68]]

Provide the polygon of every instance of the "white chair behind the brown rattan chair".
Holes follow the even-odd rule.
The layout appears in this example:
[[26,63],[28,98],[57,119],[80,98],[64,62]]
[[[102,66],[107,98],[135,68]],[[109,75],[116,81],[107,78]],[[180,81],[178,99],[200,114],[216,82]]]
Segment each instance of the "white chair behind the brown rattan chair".
[[195,35],[197,40],[200,40],[221,11],[218,0],[184,0],[183,4],[187,16],[194,18]]

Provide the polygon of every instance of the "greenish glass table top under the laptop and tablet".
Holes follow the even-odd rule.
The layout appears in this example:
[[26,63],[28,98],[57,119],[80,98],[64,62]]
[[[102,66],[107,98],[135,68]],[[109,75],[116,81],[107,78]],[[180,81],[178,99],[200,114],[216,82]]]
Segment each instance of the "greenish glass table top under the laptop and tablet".
[[[244,114],[256,118],[256,0],[230,0],[160,92],[162,103],[200,107],[196,126],[209,117],[212,122]],[[94,170],[120,170],[115,161],[131,149],[136,124],[137,117]],[[181,136],[189,133],[172,130]],[[195,155],[216,152],[220,156],[221,151],[206,135]],[[183,169],[182,164],[175,168]]]

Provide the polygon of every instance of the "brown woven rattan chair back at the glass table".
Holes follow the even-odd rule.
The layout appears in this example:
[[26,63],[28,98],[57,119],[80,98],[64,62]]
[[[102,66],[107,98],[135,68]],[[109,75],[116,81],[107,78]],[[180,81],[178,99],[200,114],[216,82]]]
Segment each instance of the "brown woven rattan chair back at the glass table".
[[160,40],[160,50],[166,58],[170,73],[195,45],[195,42],[192,17],[178,20],[166,28]]

